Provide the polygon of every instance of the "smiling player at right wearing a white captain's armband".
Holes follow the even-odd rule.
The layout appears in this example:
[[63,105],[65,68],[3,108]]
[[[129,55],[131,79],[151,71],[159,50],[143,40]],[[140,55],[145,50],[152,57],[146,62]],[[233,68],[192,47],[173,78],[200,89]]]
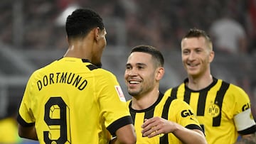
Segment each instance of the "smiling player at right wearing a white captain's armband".
[[242,142],[255,141],[256,126],[247,94],[210,74],[214,52],[207,33],[189,30],[181,40],[181,57],[188,78],[165,95],[190,104],[209,144],[233,144],[238,135]]

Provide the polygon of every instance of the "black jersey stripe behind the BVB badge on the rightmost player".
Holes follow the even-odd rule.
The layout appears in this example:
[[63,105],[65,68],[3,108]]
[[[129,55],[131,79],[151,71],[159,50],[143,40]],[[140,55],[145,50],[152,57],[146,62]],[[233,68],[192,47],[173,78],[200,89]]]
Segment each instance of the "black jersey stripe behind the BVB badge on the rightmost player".
[[227,82],[222,82],[222,84],[220,86],[220,90],[216,94],[214,103],[219,106],[220,114],[218,116],[216,116],[215,118],[213,118],[213,126],[220,126],[223,98],[224,98],[225,93],[227,92],[229,86],[230,86],[230,84],[228,84]]

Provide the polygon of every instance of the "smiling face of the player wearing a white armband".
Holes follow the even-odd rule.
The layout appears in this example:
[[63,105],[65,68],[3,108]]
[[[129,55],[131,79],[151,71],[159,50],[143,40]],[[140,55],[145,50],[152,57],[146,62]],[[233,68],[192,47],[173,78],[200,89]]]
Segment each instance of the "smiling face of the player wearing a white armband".
[[210,62],[213,61],[214,52],[205,38],[184,38],[181,41],[181,55],[188,77],[210,74]]

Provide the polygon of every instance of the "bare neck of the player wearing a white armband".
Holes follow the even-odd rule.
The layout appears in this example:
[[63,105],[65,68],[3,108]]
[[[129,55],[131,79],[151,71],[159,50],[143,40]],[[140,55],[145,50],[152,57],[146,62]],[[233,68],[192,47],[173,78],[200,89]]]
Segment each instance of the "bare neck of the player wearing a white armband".
[[203,77],[189,77],[186,84],[189,89],[200,90],[208,87],[213,82],[213,77],[208,74]]

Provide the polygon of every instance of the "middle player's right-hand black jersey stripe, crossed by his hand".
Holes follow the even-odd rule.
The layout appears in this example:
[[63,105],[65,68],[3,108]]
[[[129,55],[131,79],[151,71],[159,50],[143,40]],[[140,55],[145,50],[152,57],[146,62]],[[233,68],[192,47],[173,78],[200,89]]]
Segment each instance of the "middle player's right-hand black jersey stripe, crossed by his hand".
[[[174,90],[176,90],[176,89],[174,89]],[[173,92],[173,90],[171,90],[171,92]],[[176,96],[176,94],[175,94],[175,96]],[[174,100],[174,97],[171,97],[171,96],[169,96],[168,99],[166,100],[166,103],[164,104],[164,109],[162,111],[162,116],[161,116],[162,118],[168,119],[169,108],[171,106],[171,101],[173,101],[173,100]],[[168,144],[169,143],[168,133],[164,134],[164,136],[162,136],[159,140],[160,140],[159,141],[160,144]]]

